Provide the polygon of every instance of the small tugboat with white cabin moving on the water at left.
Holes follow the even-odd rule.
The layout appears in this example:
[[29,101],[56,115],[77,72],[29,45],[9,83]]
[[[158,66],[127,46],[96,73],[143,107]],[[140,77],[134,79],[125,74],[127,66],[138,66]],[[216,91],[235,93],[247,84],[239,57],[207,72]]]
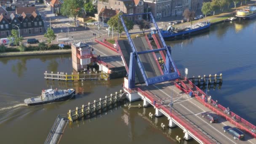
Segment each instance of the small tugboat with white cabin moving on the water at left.
[[56,101],[65,101],[67,99],[71,99],[75,95],[75,89],[67,89],[67,90],[55,90],[47,89],[42,90],[42,94],[40,96],[31,97],[29,99],[25,99],[24,103],[31,106],[37,104],[47,104]]

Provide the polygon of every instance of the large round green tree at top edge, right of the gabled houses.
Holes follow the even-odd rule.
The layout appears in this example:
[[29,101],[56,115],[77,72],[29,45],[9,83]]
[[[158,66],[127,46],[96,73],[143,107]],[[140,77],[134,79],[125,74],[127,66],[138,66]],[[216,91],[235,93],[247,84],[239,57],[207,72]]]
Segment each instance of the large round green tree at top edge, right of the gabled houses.
[[75,25],[77,16],[81,13],[85,0],[64,0],[61,5],[61,13],[64,16],[74,17]]

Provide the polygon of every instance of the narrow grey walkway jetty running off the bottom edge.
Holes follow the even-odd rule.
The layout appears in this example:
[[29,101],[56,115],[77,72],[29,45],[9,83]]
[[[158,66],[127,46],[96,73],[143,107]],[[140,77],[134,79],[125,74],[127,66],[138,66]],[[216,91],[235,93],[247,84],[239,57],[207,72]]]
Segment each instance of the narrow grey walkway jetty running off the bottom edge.
[[68,119],[66,117],[58,115],[44,144],[59,143],[61,136],[67,126],[67,121]]

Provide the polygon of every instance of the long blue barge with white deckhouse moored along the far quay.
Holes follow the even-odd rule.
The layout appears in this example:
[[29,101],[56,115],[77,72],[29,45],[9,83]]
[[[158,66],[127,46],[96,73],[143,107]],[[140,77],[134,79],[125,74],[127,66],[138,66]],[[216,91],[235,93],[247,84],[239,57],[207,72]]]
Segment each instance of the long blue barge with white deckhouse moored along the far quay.
[[[208,31],[211,26],[210,22],[200,22],[197,24],[192,24],[184,28],[174,28],[173,26],[167,27],[166,30],[160,29],[161,34],[165,40],[174,40],[182,37],[187,37],[191,35],[196,35],[200,32]],[[156,33],[152,31],[151,34]]]

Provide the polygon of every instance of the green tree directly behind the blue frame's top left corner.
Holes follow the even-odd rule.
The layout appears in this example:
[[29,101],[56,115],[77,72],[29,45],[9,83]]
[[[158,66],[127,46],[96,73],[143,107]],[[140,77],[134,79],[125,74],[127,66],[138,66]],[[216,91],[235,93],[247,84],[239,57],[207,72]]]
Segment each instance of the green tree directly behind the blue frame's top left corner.
[[[122,13],[119,13],[118,15],[115,15],[112,18],[110,18],[109,21],[107,21],[107,24],[110,27],[115,27],[115,30],[118,31],[119,36],[121,37],[121,33],[124,31],[124,27],[122,25],[121,19],[119,19],[120,15],[122,15]],[[129,21],[129,20],[125,19],[125,18],[123,18],[123,19],[125,21],[125,25],[126,25],[128,31],[133,29],[133,26],[134,26],[133,22]],[[118,28],[118,21],[119,21],[119,28]]]

